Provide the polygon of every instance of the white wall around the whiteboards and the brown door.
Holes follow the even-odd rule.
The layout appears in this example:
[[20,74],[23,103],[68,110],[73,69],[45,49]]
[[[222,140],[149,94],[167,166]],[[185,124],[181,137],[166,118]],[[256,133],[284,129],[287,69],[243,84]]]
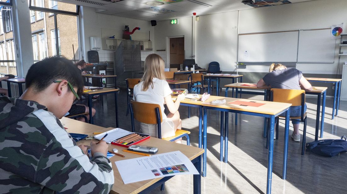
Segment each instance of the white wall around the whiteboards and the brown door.
[[[200,16],[200,21],[196,22],[196,62],[201,67],[208,67],[209,62],[218,61],[221,70],[233,70],[238,33],[330,28],[339,23],[345,23],[344,33],[347,33],[346,10],[346,0],[315,0]],[[192,18],[178,19],[177,26],[170,25],[169,20],[157,23],[155,48],[165,49],[166,37],[184,35],[188,58],[192,53]],[[337,45],[339,42],[340,39],[337,39]],[[338,49],[337,46],[336,56]],[[347,57],[342,58],[342,61],[345,60]],[[334,64],[297,64],[297,68],[310,74],[336,74],[337,61],[338,57]],[[266,72],[267,69],[264,66],[247,66],[247,69],[239,71]]]

